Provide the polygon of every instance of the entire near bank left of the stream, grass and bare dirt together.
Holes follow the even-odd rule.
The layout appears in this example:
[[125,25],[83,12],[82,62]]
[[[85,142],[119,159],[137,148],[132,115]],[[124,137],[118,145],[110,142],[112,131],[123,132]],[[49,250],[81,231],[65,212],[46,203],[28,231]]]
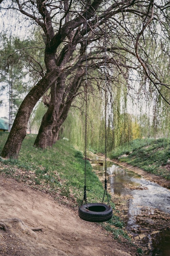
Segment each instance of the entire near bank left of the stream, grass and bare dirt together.
[[[1,150],[5,137],[1,134]],[[78,217],[84,185],[82,154],[64,140],[53,148],[36,149],[34,139],[26,136],[18,160],[0,158],[0,255],[140,255],[114,217],[104,225]],[[89,163],[87,172],[88,200],[101,201],[103,186]],[[111,232],[106,231],[108,225]]]

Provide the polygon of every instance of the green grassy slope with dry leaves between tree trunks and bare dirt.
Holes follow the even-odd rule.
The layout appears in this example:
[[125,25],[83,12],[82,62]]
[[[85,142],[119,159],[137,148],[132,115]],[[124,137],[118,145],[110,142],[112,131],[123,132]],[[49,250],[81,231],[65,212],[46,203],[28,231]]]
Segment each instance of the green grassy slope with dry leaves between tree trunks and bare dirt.
[[[0,152],[8,133],[0,133]],[[19,158],[0,157],[0,172],[25,182],[26,185],[52,195],[56,200],[78,207],[84,195],[84,159],[81,152],[75,150],[68,141],[60,140],[53,148],[41,150],[33,147],[35,135],[26,135],[22,143]],[[88,202],[102,202],[104,188],[97,175],[87,162],[87,198]],[[107,199],[106,199],[107,202]],[[111,231],[115,238],[128,238],[124,222],[114,209],[113,218],[102,225]]]

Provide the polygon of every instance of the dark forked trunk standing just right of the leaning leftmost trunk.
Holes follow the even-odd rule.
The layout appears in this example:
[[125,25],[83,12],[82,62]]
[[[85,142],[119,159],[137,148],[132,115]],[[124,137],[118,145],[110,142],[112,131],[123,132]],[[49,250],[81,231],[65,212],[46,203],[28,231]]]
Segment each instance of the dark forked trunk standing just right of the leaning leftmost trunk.
[[42,119],[42,123],[35,139],[34,146],[37,148],[52,147],[57,141],[60,128],[71,107],[73,99],[82,84],[82,77],[84,70],[79,68],[75,75],[75,78],[68,87],[68,95],[66,97],[65,83],[66,75],[62,74],[58,79],[57,83],[51,87],[51,101],[49,108]]

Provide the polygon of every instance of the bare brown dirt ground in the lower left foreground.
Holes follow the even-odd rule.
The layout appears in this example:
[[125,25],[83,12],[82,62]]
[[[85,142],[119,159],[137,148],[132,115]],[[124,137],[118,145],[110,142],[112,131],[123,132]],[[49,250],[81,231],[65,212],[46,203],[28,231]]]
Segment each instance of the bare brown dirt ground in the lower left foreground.
[[[5,231],[5,227],[7,231]],[[42,231],[33,231],[40,227]],[[0,175],[1,256],[134,256],[102,227],[43,192]]]

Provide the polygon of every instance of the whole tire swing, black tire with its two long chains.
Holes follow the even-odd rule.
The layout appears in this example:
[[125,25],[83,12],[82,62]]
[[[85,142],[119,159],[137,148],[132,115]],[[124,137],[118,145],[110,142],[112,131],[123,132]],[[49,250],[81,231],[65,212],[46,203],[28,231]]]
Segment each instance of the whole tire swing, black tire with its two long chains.
[[[86,32],[87,32],[87,18],[86,18]],[[87,39],[86,39],[87,49]],[[105,63],[106,63],[106,37],[105,37]],[[106,67],[106,64],[105,64]],[[87,161],[87,53],[86,53],[86,82],[85,82],[85,168],[84,168],[84,198],[79,207],[78,215],[82,220],[89,222],[104,222],[110,220],[113,216],[113,209],[110,206],[108,192],[107,192],[107,166],[106,166],[106,150],[107,150],[107,136],[106,136],[106,110],[107,110],[107,79],[105,74],[105,181],[104,181],[104,195],[102,203],[88,203],[86,197],[86,161]],[[104,203],[105,195],[107,196],[108,204]],[[85,202],[85,204],[83,204]]]

